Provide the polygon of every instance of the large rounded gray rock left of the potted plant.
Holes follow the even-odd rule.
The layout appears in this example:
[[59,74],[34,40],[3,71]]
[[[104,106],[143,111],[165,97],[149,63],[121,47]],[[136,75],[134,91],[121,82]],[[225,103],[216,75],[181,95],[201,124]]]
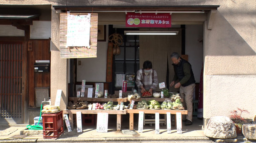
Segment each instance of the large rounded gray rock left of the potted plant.
[[204,135],[218,139],[235,138],[236,126],[230,118],[226,116],[215,116],[210,118],[204,129]]

